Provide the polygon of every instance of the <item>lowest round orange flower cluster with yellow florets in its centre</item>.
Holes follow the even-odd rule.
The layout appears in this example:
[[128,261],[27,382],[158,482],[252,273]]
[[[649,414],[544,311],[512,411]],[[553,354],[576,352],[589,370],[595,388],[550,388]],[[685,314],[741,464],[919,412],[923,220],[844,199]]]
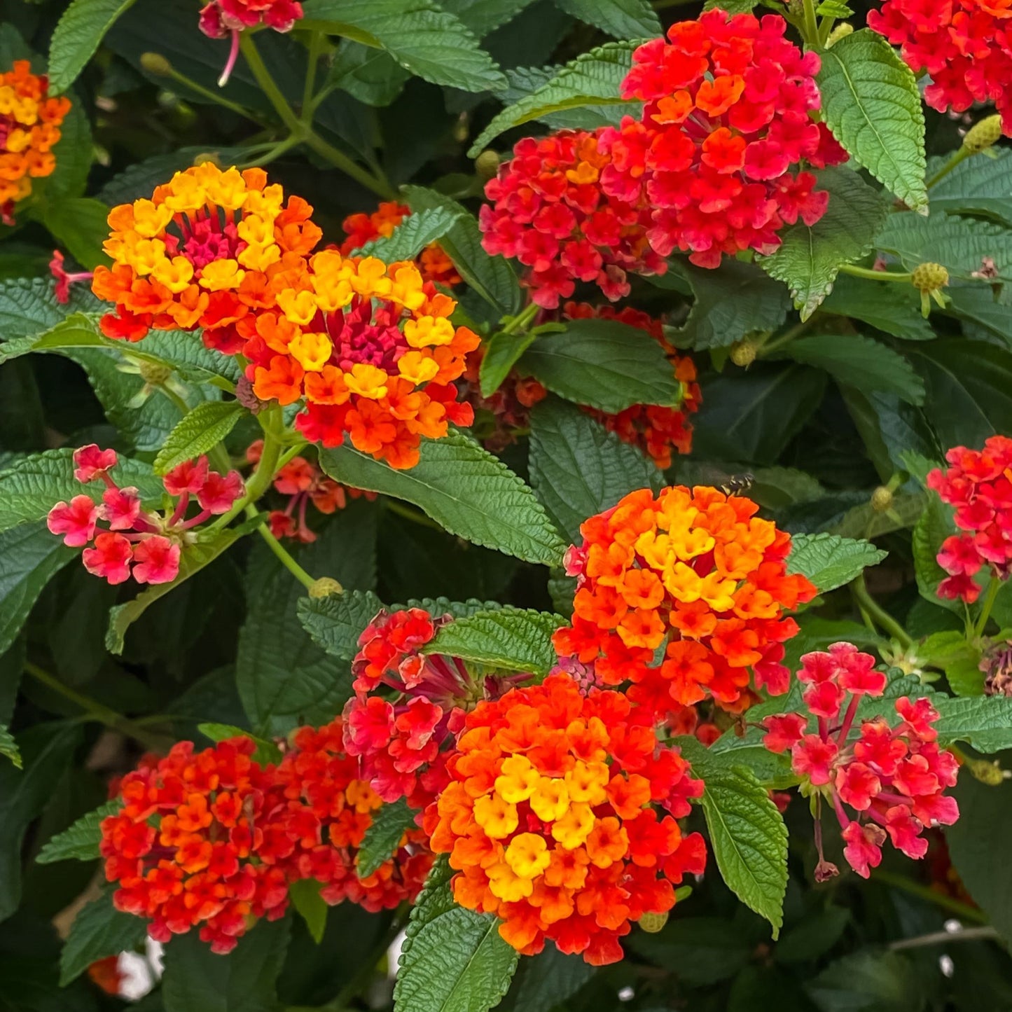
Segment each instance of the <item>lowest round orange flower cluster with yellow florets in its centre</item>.
[[448,770],[425,814],[432,849],[458,872],[456,902],[496,914],[522,953],[551,939],[614,962],[630,922],[667,913],[682,876],[703,870],[702,838],[675,821],[702,783],[618,692],[585,695],[556,674],[482,701]]

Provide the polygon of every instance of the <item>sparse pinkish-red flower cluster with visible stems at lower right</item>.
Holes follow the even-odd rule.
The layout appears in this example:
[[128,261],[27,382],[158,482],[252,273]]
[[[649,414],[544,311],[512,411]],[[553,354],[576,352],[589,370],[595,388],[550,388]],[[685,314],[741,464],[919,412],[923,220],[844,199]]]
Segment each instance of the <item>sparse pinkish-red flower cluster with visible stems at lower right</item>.
[[[861,697],[880,696],[886,689],[886,676],[873,670],[874,664],[870,654],[849,643],[834,644],[828,653],[806,654],[797,678],[807,686],[805,703],[818,719],[817,732],[808,732],[809,715],[803,713],[763,722],[766,748],[790,749],[803,792],[825,796],[833,806],[846,843],[844,856],[864,878],[881,861],[887,836],[908,857],[923,857],[928,849],[924,828],[951,826],[959,817],[955,798],[945,793],[955,785],[955,756],[938,747],[932,728],[938,712],[927,699],[898,699],[897,727],[890,728],[880,716],[864,721],[856,740],[848,741]],[[857,813],[855,818],[845,805]],[[837,869],[822,856],[816,825],[816,877],[822,880]]]

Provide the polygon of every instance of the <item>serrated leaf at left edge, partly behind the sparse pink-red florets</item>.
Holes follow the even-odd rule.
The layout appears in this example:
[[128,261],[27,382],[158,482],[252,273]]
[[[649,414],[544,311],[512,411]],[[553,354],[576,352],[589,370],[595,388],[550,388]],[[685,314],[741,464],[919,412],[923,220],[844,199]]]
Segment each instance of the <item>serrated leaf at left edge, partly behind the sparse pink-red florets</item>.
[[[105,486],[94,482],[82,485],[74,478],[74,450],[48,449],[18,460],[0,471],[0,532],[22,523],[45,520],[50,509],[74,496],[91,496],[101,501]],[[134,486],[141,498],[157,504],[164,493],[162,483],[152,474],[150,465],[119,456],[111,477],[120,487]]]

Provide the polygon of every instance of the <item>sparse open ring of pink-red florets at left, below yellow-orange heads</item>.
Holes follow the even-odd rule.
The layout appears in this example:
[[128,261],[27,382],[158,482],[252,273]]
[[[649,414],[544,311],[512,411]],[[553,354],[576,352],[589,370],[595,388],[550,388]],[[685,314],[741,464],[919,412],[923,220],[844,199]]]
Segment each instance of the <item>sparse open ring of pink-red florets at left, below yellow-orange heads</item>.
[[[180,463],[164,477],[165,491],[175,503],[171,510],[159,514],[142,508],[136,488],[120,488],[109,477],[116,466],[115,450],[90,443],[74,451],[74,477],[82,485],[99,480],[105,483],[101,504],[82,493],[69,503],[58,502],[47,523],[52,533],[63,535],[65,544],[89,544],[81,554],[84,568],[111,584],[123,583],[131,576],[138,583],[174,580],[180,552],[194,539],[192,528],[212,516],[228,513],[243,494],[237,471],[227,475],[208,471],[207,458],[201,456]],[[191,495],[200,510],[187,520]],[[99,520],[108,524],[108,530],[98,527]]]

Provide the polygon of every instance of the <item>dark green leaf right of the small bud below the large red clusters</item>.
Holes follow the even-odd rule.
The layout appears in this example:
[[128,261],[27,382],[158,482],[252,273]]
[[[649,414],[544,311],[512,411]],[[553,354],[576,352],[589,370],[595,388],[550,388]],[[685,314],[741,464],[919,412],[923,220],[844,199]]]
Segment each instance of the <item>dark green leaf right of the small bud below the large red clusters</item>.
[[924,404],[924,381],[899,352],[859,334],[816,334],[791,341],[794,361],[825,369],[838,383],[861,391],[880,390],[908,404]]

